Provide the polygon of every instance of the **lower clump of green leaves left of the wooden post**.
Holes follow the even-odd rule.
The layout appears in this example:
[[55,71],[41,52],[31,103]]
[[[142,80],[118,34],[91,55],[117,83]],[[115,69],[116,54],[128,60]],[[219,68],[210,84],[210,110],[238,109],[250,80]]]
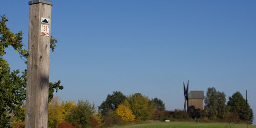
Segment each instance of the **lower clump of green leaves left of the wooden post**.
[[19,71],[10,71],[8,63],[0,57],[0,125],[7,127],[11,115],[20,119],[22,116],[21,106],[25,99],[24,75],[19,76]]

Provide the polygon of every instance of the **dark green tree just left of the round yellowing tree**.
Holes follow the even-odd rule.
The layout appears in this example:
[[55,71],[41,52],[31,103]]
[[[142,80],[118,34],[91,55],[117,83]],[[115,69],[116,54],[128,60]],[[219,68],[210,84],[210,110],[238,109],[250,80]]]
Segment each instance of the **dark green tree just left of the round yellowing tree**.
[[99,106],[99,111],[102,112],[102,115],[105,116],[106,112],[109,110],[115,111],[117,106],[121,104],[126,99],[126,96],[119,91],[114,91],[112,95],[108,95],[106,100],[101,103]]

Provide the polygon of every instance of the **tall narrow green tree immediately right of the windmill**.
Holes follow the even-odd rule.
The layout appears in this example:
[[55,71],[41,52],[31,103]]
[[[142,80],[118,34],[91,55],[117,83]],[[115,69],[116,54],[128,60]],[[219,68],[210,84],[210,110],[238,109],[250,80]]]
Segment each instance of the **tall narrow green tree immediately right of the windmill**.
[[204,112],[211,120],[217,119],[218,115],[218,94],[215,88],[208,88],[204,99]]

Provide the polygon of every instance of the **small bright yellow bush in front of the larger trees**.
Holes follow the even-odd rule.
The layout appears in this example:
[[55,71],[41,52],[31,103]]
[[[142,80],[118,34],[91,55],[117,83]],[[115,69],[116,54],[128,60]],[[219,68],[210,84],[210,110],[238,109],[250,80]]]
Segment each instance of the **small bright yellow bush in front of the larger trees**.
[[118,105],[116,109],[116,115],[120,116],[122,120],[125,122],[135,120],[135,116],[133,115],[133,112],[123,104]]

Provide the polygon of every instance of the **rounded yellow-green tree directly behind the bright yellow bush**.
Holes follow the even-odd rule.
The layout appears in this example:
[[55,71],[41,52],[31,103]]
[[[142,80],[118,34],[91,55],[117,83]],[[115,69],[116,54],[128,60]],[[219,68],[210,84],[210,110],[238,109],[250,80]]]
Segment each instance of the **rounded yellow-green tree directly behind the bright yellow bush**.
[[147,120],[154,113],[154,105],[146,96],[136,93],[127,97],[123,103],[133,111],[137,120]]

